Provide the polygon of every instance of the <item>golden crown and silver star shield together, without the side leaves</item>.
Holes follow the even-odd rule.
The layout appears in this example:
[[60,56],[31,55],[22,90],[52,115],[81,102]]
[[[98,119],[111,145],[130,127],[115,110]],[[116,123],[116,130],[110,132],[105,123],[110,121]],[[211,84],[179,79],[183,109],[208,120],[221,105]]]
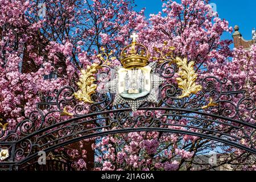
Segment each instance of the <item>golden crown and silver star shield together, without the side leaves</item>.
[[159,85],[164,81],[156,75],[156,62],[148,64],[150,53],[145,46],[136,43],[136,37],[133,34],[133,42],[123,49],[123,67],[115,69],[115,78],[108,85],[115,93],[113,105],[128,104],[133,111],[143,102],[156,102]]

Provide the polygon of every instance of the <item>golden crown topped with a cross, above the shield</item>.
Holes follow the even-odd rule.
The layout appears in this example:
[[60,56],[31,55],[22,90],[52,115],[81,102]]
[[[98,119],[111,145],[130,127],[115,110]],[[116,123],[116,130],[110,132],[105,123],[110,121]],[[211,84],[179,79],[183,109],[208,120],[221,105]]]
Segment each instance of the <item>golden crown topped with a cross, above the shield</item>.
[[123,68],[145,67],[148,64],[150,53],[145,46],[136,42],[138,35],[133,33],[131,38],[133,38],[133,42],[121,52],[121,64]]

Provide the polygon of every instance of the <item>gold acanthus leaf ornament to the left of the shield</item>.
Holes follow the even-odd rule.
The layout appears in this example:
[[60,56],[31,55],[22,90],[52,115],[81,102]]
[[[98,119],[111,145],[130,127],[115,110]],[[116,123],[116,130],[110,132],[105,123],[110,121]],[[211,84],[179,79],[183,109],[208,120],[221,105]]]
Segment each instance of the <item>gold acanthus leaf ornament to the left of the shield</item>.
[[100,68],[100,65],[93,63],[91,66],[87,66],[86,70],[81,70],[81,76],[79,78],[79,82],[77,82],[79,90],[74,93],[77,100],[84,101],[89,104],[93,103],[90,96],[96,93],[97,89],[97,84],[94,84],[94,81],[96,81],[94,74],[97,73]]

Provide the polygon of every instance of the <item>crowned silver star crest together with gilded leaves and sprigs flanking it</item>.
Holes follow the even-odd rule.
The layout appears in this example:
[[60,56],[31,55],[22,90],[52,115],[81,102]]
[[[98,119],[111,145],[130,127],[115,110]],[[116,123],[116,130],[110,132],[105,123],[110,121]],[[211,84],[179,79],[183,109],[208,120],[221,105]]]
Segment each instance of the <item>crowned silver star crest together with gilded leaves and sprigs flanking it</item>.
[[[133,42],[121,52],[122,67],[114,69],[115,77],[105,85],[111,93],[115,94],[114,106],[128,104],[133,111],[136,111],[144,102],[156,103],[159,86],[165,81],[165,78],[168,78],[168,76],[158,75],[159,72],[156,71],[157,61],[148,63],[150,52],[145,46],[136,42],[137,37],[138,35],[135,33],[131,35]],[[166,43],[164,45],[166,46]],[[164,54],[163,51],[156,48],[156,52],[160,54],[160,57],[153,57],[153,60],[159,60],[159,63],[162,62],[161,68],[167,63],[175,63],[180,69],[180,77],[177,78],[177,84],[183,92],[179,98],[189,97],[191,94],[199,92],[201,85],[197,85],[195,82],[197,74],[193,68],[194,62],[190,61],[188,63],[187,59],[181,59],[180,57],[175,59],[172,57],[174,47],[167,47],[167,49],[168,51],[166,48],[163,49],[163,51],[168,52]],[[79,82],[77,82],[80,89],[74,93],[78,100],[89,104],[93,104],[91,96],[96,93],[97,88],[97,84],[94,83],[96,78],[93,74],[97,73],[98,69],[107,67],[105,63],[109,60],[115,59],[115,57],[109,59],[113,52],[106,53],[104,48],[101,51],[104,51],[104,53],[98,55],[101,63],[93,63],[87,67],[86,71],[81,71],[82,74]]]

